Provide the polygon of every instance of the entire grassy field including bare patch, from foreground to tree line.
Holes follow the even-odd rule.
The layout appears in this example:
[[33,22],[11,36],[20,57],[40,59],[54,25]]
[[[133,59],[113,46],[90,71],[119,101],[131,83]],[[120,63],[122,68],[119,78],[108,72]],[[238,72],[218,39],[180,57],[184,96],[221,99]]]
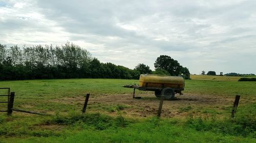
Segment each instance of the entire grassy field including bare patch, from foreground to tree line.
[[[15,108],[51,115],[0,112],[0,142],[256,142],[256,82],[238,79],[191,75],[184,95],[164,101],[160,119],[153,92],[136,91],[142,99],[133,99],[133,89],[122,88],[138,80],[0,81],[15,92]],[[231,120],[235,95],[241,99]]]

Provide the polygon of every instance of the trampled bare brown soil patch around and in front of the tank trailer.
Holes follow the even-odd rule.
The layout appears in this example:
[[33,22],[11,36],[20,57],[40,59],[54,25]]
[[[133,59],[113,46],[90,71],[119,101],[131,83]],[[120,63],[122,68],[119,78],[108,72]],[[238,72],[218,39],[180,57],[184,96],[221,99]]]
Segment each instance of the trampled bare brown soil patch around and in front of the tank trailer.
[[[137,95],[139,96],[139,95]],[[108,95],[92,99],[91,102],[103,104],[123,104],[129,106],[124,109],[131,116],[155,116],[157,115],[160,98],[154,94],[140,95],[141,99],[134,99],[132,95]],[[230,97],[213,97],[202,95],[176,95],[174,100],[164,100],[162,107],[163,117],[186,117],[188,112],[202,112],[205,109],[225,108],[232,106],[233,99]],[[187,108],[190,106],[189,108]]]

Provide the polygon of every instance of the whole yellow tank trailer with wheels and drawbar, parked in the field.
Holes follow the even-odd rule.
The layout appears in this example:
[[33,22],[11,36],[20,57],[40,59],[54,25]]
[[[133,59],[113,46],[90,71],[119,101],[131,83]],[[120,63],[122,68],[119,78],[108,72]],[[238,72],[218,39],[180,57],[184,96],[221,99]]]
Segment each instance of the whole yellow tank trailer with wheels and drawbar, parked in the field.
[[124,85],[123,87],[142,91],[155,91],[156,97],[164,96],[165,99],[173,99],[175,93],[182,94],[181,91],[184,90],[184,86],[185,80],[181,76],[141,74],[139,85]]

